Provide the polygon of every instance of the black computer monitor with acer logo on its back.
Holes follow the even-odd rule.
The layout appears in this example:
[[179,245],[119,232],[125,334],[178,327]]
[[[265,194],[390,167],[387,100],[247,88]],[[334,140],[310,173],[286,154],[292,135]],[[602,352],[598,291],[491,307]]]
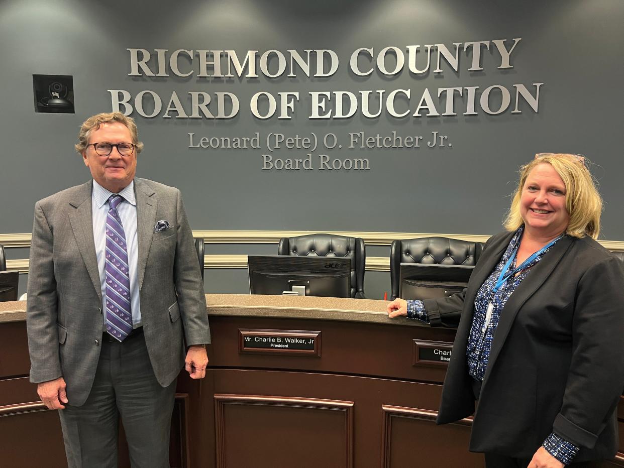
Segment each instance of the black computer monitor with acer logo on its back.
[[247,265],[251,294],[351,297],[350,258],[249,255]]

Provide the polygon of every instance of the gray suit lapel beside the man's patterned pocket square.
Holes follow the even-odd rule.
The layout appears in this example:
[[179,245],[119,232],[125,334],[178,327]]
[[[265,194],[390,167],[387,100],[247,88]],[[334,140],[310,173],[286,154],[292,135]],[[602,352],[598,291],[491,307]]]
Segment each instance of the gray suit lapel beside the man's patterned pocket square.
[[157,200],[154,196],[154,190],[152,190],[142,179],[135,178],[134,182],[137,197],[137,244],[139,248],[137,274],[139,275],[140,291],[145,277],[147,255],[150,251],[150,247],[152,246],[152,237],[154,236]]

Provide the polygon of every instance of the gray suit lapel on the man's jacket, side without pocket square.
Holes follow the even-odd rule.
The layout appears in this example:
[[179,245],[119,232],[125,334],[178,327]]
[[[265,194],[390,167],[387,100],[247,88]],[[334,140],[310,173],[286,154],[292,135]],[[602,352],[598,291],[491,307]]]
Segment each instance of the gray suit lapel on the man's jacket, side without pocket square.
[[80,255],[82,255],[82,261],[84,261],[89,272],[89,278],[91,278],[93,287],[100,301],[102,301],[102,283],[100,283],[100,272],[97,268],[97,255],[93,240],[92,187],[92,181],[81,185],[76,197],[69,202],[69,205],[75,208],[69,212],[69,223],[74,232]]

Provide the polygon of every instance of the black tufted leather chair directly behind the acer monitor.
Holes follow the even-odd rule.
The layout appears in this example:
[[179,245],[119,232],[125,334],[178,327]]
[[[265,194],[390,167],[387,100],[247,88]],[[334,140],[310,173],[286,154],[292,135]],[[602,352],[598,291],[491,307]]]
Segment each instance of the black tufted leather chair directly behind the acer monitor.
[[331,234],[309,234],[283,237],[278,245],[278,255],[337,256],[351,258],[351,297],[364,298],[364,267],[366,247],[359,237]]

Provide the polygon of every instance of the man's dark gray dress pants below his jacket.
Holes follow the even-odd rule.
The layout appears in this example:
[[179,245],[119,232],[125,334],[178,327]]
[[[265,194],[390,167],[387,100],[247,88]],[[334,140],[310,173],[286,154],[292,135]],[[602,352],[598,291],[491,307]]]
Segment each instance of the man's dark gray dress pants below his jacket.
[[150,364],[145,338],[102,340],[87,401],[59,411],[70,468],[117,467],[119,416],[133,468],[169,467],[169,432],[175,380],[163,388]]

